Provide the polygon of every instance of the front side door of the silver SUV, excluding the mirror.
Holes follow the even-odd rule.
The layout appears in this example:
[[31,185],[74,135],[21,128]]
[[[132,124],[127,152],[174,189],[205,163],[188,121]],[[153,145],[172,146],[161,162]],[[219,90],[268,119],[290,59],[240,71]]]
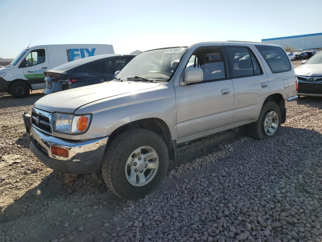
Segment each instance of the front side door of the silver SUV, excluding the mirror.
[[193,139],[232,125],[234,87],[223,46],[197,48],[185,68],[199,67],[203,81],[175,85],[178,140]]

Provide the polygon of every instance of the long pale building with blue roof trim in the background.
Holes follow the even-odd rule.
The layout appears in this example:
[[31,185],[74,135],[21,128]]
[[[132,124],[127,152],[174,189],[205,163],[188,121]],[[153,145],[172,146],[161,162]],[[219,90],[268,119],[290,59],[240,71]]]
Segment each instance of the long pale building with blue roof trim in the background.
[[322,33],[262,39],[261,42],[282,47],[289,45],[295,47],[296,50],[318,49],[322,48]]

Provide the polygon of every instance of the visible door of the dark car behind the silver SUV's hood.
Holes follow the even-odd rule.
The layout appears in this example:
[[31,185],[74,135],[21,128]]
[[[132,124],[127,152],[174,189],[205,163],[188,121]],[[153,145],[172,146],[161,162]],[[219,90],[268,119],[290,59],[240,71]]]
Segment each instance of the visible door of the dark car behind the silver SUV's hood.
[[130,57],[121,56],[102,61],[101,65],[103,67],[105,81],[110,81],[114,77],[115,72],[122,70],[131,59]]

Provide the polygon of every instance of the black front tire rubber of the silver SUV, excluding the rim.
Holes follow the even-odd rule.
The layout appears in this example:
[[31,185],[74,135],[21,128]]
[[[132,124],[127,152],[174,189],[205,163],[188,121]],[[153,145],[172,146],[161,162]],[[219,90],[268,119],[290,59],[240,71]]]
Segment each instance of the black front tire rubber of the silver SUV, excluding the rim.
[[[151,146],[159,157],[159,166],[153,179],[142,187],[131,185],[125,176],[125,165],[131,153],[140,146]],[[131,129],[119,134],[108,145],[102,161],[102,174],[106,185],[117,196],[135,200],[160,186],[169,163],[168,148],[163,139],[146,129]]]

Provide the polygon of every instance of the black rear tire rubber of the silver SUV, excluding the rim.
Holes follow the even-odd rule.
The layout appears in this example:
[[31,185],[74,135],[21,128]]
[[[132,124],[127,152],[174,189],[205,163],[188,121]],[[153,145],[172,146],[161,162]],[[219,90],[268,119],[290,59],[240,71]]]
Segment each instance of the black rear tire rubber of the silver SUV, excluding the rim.
[[[270,111],[275,111],[278,115],[278,118],[279,118],[277,130],[271,136],[269,136],[265,133],[264,127],[263,127],[264,118],[265,118],[266,114]],[[249,134],[249,136],[251,136],[254,139],[261,140],[261,139],[272,138],[278,134],[280,124],[281,124],[281,112],[279,110],[279,106],[275,102],[269,101],[269,102],[264,103],[264,105],[262,106],[262,108],[260,110],[260,115],[259,115],[257,121],[249,125],[248,134]]]

